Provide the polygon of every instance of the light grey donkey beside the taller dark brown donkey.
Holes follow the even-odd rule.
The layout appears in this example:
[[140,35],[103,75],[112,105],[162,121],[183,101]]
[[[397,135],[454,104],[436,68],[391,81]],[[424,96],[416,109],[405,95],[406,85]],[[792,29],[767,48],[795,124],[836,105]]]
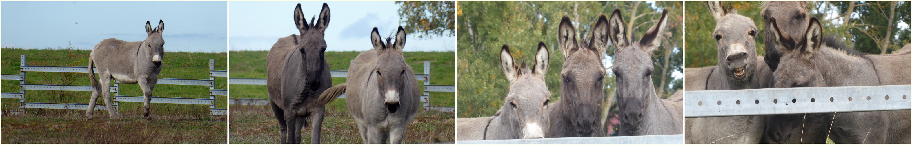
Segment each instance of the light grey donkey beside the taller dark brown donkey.
[[402,57],[406,32],[399,26],[396,41],[384,43],[374,27],[370,40],[374,48],[351,60],[346,83],[326,94],[335,98],[345,92],[348,113],[358,122],[364,143],[402,143],[421,109],[418,79]]

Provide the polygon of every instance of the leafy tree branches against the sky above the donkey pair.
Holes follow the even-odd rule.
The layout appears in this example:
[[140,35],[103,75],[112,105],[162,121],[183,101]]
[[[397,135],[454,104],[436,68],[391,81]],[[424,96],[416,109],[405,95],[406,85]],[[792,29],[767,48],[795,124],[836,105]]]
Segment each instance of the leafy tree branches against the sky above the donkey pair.
[[419,38],[455,35],[455,2],[396,2],[399,23],[409,35]]

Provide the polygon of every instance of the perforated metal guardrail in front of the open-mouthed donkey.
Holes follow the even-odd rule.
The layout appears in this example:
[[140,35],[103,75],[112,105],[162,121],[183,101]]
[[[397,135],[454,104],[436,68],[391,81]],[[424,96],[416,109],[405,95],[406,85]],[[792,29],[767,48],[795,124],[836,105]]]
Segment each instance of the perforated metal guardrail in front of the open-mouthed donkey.
[[684,117],[910,109],[910,85],[685,91]]

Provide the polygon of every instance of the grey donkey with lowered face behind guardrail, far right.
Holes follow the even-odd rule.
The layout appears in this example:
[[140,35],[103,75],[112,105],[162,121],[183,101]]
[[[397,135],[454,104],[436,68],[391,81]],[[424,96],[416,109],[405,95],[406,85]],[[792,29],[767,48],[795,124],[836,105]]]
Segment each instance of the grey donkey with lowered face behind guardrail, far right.
[[[833,47],[823,36],[823,28],[812,17],[803,36],[793,39],[771,17],[775,48],[782,53],[778,70],[773,72],[776,88],[845,87],[909,84],[909,45],[891,55],[868,55]],[[845,46],[845,45],[843,45]],[[837,63],[838,62],[838,63]],[[873,75],[870,75],[873,74]],[[833,114],[833,113],[827,113]],[[827,117],[827,116],[824,116]],[[836,143],[908,143],[909,111],[869,111],[834,113],[829,137]],[[771,120],[781,121],[781,120]],[[807,120],[804,120],[805,122]],[[802,123],[781,121],[780,123]],[[799,128],[800,125],[791,125]],[[788,127],[782,125],[781,127]],[[776,131],[780,132],[776,132]],[[773,140],[789,140],[789,129],[772,129]],[[813,130],[812,130],[813,131]],[[799,132],[801,133],[801,132]]]

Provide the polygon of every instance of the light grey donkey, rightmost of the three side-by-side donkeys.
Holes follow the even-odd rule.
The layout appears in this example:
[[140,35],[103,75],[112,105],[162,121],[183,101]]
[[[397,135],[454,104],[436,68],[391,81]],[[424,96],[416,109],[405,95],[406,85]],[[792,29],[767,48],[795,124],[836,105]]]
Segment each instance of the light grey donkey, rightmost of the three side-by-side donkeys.
[[[668,26],[668,10],[662,10],[662,16],[656,25],[649,28],[638,42],[627,41],[627,26],[624,22],[621,10],[615,9],[610,20],[606,21],[605,16],[599,16],[596,23],[594,31],[607,31],[607,35],[593,35],[593,39],[609,40],[616,47],[612,70],[617,76],[617,109],[620,109],[623,116],[617,134],[640,136],[684,133],[683,95],[676,92],[677,95],[673,98],[658,98],[651,77],[652,51],[661,44],[662,34]],[[607,27],[599,27],[599,24],[606,24]]]

